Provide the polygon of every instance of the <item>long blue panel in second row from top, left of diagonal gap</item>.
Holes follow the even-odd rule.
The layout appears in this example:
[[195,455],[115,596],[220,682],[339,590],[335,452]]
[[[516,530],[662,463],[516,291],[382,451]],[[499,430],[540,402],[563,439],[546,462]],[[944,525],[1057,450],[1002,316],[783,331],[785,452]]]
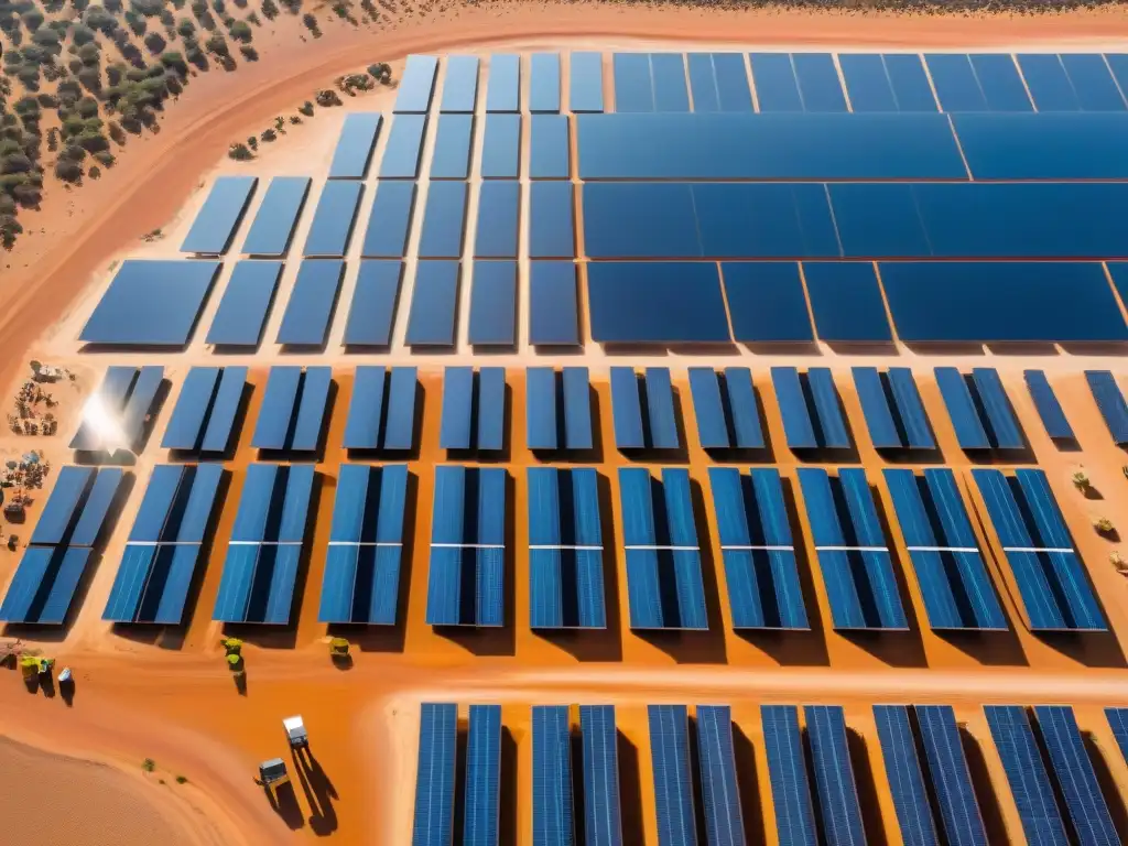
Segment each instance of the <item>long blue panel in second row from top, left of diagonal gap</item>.
[[[759,90],[755,64],[752,77]],[[585,180],[968,177],[943,115],[614,114],[575,122]]]

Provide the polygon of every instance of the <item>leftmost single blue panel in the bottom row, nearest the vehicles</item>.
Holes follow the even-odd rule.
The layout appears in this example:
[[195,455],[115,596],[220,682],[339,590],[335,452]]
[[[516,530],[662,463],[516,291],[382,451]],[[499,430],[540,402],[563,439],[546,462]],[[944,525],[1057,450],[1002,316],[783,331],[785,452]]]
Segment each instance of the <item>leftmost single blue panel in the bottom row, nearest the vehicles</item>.
[[420,705],[412,846],[450,846],[455,832],[458,706]]

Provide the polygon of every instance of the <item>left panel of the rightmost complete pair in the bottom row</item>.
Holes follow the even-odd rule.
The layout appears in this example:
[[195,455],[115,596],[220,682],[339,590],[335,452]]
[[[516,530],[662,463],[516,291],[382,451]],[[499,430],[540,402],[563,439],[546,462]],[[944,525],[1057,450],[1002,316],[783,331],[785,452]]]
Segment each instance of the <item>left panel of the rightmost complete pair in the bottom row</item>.
[[984,711],[1028,841],[1065,846],[1069,838],[1025,710],[1017,705],[985,705]]

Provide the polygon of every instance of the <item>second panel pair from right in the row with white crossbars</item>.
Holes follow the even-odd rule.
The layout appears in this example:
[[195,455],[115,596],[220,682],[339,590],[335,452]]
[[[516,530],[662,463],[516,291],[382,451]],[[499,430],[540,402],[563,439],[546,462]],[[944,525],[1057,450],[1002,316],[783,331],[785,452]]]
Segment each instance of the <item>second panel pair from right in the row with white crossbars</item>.
[[1005,629],[952,472],[887,469],[885,484],[935,629]]

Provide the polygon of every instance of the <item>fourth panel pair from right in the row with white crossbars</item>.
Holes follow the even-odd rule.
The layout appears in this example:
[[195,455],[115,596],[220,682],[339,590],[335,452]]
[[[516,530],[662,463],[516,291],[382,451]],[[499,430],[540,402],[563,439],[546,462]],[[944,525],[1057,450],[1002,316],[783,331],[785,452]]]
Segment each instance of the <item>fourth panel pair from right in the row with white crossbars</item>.
[[809,628],[779,473],[710,467],[733,628]]

